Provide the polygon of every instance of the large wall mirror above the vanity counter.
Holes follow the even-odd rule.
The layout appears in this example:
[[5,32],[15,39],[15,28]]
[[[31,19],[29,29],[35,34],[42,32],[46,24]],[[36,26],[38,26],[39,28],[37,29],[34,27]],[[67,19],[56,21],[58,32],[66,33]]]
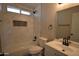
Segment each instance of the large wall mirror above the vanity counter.
[[71,36],[72,41],[79,42],[79,6],[57,12],[56,37]]

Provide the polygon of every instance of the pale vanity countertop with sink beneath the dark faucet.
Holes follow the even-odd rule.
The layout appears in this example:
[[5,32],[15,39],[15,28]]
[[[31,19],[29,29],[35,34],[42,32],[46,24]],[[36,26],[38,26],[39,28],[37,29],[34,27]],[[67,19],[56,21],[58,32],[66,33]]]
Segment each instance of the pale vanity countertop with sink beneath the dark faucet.
[[[73,44],[73,43],[71,43],[71,44]],[[65,46],[65,45],[62,44],[61,41],[54,40],[54,41],[46,43],[46,46],[48,46],[48,47],[46,47],[46,46],[45,47],[46,47],[47,51],[48,51],[48,49],[50,47],[51,50],[55,49],[55,50],[59,51],[60,53],[65,54],[65,55],[78,56],[79,55],[79,53],[78,53],[79,52],[79,48],[75,47],[75,46],[72,46],[71,44],[69,46]],[[51,50],[49,50],[49,51],[51,51]]]

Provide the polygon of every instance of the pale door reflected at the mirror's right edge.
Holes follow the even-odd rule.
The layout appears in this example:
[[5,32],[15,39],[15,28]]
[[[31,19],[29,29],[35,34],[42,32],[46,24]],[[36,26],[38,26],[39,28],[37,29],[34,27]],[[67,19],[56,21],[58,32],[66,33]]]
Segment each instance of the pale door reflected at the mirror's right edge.
[[72,14],[72,40],[79,42],[79,12]]

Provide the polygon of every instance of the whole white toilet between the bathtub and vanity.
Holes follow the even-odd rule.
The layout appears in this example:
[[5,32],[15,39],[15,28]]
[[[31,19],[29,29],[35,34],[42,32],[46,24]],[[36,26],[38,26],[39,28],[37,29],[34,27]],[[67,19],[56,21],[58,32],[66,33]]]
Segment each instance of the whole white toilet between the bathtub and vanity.
[[44,37],[39,37],[38,45],[33,45],[29,48],[29,54],[32,56],[41,56],[43,55],[43,50],[45,47],[45,43],[47,43],[48,39]]

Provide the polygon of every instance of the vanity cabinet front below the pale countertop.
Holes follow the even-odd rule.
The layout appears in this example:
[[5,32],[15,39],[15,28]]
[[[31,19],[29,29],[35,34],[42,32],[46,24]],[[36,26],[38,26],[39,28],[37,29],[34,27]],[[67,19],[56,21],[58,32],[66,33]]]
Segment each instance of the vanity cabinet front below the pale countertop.
[[66,56],[64,53],[57,51],[56,49],[45,46],[45,56]]

